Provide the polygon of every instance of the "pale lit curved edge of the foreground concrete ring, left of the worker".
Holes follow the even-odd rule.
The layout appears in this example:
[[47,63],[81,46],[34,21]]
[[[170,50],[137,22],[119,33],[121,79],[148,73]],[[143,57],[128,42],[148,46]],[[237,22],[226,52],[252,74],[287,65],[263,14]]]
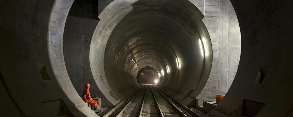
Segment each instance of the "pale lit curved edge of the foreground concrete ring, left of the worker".
[[[85,103],[72,86],[69,79],[63,56],[63,31],[69,9],[73,1],[56,1],[52,8],[49,27],[48,27],[48,52],[52,72],[59,86],[63,90],[66,98],[62,98],[68,105],[69,110],[76,116],[96,116]],[[64,12],[60,12],[64,11]],[[61,51],[61,52],[60,52]],[[68,99],[68,101],[67,101]]]

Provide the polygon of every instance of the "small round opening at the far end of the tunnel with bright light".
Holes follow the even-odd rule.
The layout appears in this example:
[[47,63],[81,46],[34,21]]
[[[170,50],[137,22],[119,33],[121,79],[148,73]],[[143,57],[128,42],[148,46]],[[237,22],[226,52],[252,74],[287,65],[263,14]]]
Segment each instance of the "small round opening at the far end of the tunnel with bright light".
[[159,73],[153,67],[146,66],[139,70],[136,75],[136,80],[139,85],[156,85],[159,82]]

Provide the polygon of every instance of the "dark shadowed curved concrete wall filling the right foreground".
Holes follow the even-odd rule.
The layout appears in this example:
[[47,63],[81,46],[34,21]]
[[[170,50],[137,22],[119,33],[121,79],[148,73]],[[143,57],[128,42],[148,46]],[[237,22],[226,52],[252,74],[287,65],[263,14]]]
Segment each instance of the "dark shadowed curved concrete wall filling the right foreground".
[[[264,103],[255,117],[293,116],[293,1],[231,0],[241,30],[241,57],[225,98],[210,114],[241,115],[243,101]],[[261,83],[260,68],[268,67]]]

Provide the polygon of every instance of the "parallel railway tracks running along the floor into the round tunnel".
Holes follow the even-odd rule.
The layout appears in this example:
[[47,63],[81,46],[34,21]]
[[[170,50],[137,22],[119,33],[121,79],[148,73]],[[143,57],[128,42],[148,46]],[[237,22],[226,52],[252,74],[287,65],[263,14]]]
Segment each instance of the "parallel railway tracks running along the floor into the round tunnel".
[[156,87],[143,86],[103,117],[200,117]]

